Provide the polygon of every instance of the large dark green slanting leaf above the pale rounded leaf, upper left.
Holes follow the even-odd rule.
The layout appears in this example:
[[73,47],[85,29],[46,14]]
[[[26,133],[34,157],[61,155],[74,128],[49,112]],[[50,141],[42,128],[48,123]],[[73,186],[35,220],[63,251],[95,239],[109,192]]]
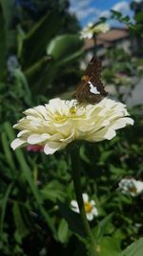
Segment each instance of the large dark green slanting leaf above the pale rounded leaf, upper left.
[[[38,21],[23,41],[23,67],[30,67],[46,54],[46,46],[57,35],[62,25],[58,12],[51,12]],[[44,35],[44,36],[43,36]],[[32,49],[32,51],[31,51]]]

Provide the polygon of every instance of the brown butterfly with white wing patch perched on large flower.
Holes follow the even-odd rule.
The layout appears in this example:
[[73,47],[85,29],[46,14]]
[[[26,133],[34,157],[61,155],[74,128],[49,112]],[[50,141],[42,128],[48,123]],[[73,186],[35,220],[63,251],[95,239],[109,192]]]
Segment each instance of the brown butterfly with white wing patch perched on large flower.
[[93,57],[77,85],[74,97],[78,103],[97,104],[107,94],[101,81],[101,61]]

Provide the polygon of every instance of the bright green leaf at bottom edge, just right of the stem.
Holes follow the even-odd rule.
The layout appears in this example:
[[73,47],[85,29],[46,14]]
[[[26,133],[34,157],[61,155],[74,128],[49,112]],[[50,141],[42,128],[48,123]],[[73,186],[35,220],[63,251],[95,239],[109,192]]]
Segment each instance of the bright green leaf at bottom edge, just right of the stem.
[[112,237],[104,237],[97,250],[99,256],[121,256],[119,245]]

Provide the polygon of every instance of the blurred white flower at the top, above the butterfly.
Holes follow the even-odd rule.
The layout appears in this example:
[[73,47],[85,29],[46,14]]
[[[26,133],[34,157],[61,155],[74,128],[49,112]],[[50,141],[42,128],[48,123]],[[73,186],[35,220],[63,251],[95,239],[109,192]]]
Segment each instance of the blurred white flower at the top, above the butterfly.
[[89,23],[88,26],[80,32],[80,37],[91,39],[93,34],[98,35],[100,33],[107,33],[109,30],[110,26],[107,23],[100,23],[97,25]]

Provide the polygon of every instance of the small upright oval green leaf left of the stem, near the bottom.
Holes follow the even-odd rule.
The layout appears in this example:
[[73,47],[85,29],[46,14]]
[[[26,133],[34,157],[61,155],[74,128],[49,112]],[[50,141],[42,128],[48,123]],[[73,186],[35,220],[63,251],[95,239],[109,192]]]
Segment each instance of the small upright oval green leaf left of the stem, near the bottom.
[[61,243],[66,243],[68,241],[69,228],[68,223],[64,219],[60,221],[57,236]]

